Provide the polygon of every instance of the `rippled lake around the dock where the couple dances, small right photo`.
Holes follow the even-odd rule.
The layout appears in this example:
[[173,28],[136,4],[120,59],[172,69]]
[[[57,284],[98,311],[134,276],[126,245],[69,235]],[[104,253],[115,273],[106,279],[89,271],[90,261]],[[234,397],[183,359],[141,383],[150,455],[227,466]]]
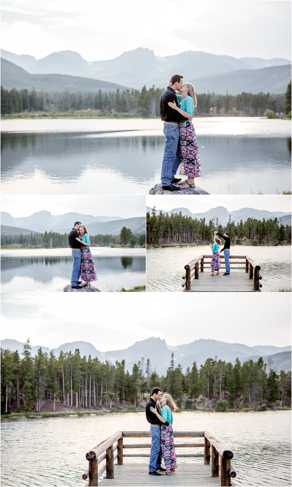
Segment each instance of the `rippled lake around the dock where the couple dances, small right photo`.
[[[147,247],[147,291],[183,291],[184,266],[197,256],[210,255],[210,253],[211,249],[208,245]],[[258,262],[261,266],[262,291],[291,289],[291,246],[232,245],[231,255],[248,255]],[[244,269],[243,265],[242,267]],[[208,269],[204,269],[204,272],[206,271],[208,272]],[[221,274],[223,272],[225,270],[221,269]],[[235,269],[231,272],[245,271]],[[210,279],[212,278],[210,277]],[[225,278],[221,276],[218,279]]]

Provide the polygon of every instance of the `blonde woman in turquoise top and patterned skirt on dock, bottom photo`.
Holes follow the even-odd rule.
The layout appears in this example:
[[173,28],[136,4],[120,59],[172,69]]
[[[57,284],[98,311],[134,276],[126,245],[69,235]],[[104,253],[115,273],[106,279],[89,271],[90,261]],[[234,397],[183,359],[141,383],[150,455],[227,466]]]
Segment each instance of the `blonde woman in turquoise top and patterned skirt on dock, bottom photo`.
[[[152,406],[150,406],[150,411],[154,412],[162,423],[168,421],[172,425],[172,413],[178,409],[178,407],[170,394],[164,393],[163,396],[161,396],[160,406],[162,407],[161,414],[159,414],[157,409]],[[165,474],[171,475],[171,472],[174,472],[177,468],[172,426],[161,425],[160,445],[166,468]]]

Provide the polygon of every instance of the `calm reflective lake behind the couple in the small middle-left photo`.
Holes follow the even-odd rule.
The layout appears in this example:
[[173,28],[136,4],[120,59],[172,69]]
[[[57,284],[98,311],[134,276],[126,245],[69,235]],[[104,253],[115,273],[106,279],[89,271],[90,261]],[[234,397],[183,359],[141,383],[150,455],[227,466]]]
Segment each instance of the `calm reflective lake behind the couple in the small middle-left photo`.
[[[91,247],[100,291],[145,285],[146,250]],[[70,284],[71,249],[1,251],[1,291],[63,291]]]

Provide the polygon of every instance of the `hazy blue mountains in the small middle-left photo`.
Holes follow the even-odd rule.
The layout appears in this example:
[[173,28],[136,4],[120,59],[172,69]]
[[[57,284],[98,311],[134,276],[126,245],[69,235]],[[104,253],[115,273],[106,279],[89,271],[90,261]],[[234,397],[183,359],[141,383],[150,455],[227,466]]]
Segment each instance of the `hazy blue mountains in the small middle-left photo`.
[[[64,215],[52,215],[50,211],[38,211],[33,215],[21,218],[14,218],[6,211],[1,211],[1,231],[7,234],[14,234],[13,227],[22,228],[25,230],[42,232],[49,232],[50,230],[58,233],[66,233],[71,230],[74,222],[81,220],[86,225],[87,230],[92,235],[119,235],[123,226],[131,228],[132,232],[145,232],[145,217],[121,218],[119,216],[92,216],[82,215],[80,213],[65,213]],[[10,227],[10,230],[9,230]],[[19,233],[19,232],[17,232]],[[30,233],[30,232],[29,232]]]

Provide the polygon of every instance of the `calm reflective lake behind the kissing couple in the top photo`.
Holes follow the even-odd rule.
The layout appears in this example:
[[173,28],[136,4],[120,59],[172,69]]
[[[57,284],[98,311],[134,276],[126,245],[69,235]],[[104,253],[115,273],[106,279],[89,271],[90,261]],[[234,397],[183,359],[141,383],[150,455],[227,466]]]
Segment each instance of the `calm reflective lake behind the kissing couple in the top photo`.
[[[194,118],[210,194],[291,190],[291,122]],[[149,194],[164,153],[159,119],[2,120],[2,194]],[[183,191],[182,191],[183,194]]]

